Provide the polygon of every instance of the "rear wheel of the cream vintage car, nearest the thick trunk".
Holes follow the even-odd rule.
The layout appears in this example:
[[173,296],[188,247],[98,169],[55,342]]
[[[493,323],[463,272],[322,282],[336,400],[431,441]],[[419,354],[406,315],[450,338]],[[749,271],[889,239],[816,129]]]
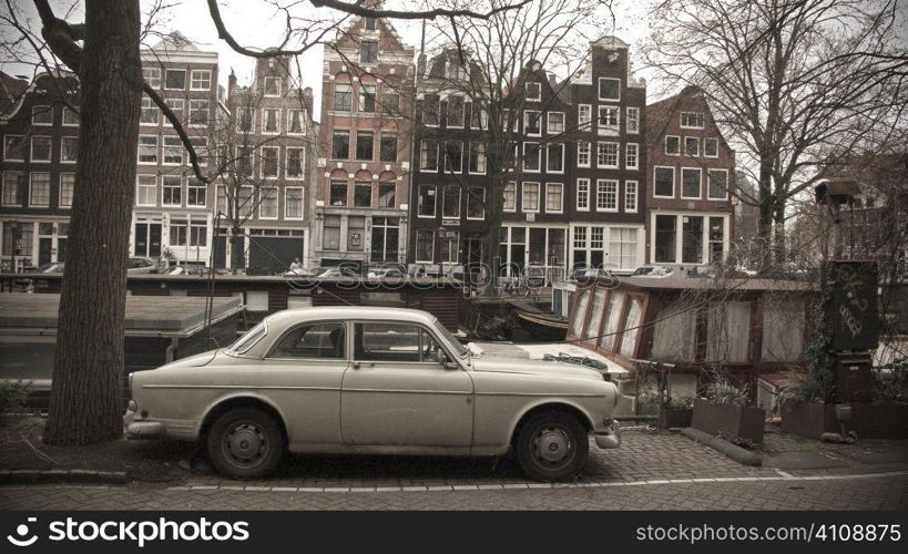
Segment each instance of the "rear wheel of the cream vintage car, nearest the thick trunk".
[[280,427],[256,408],[236,408],[218,417],[206,442],[214,466],[232,479],[267,476],[280,463],[285,447]]

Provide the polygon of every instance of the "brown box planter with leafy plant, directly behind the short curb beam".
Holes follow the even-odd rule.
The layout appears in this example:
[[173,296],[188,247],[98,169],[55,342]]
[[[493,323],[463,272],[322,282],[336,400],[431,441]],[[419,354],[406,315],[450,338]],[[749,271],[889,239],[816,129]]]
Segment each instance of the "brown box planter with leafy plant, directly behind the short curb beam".
[[723,375],[715,375],[704,398],[694,400],[691,427],[732,442],[763,443],[766,410],[747,406],[747,386],[738,387]]

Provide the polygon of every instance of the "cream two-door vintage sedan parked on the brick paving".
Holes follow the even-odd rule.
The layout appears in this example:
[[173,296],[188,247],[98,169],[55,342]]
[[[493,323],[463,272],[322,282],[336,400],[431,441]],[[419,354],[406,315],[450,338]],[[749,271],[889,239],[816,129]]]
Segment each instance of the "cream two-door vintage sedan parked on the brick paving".
[[131,438],[198,441],[233,478],[285,450],[497,456],[569,479],[592,434],[618,448],[616,387],[570,363],[478,357],[433,316],[325,307],[274,314],[228,348],[130,375]]

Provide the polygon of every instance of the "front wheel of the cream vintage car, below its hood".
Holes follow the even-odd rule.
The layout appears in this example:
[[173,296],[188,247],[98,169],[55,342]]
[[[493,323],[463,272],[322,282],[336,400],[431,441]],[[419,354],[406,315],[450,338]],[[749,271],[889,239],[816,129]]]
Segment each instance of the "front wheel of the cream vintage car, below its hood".
[[517,460],[529,478],[564,481],[577,475],[590,453],[586,430],[561,411],[537,413],[520,425],[514,443]]

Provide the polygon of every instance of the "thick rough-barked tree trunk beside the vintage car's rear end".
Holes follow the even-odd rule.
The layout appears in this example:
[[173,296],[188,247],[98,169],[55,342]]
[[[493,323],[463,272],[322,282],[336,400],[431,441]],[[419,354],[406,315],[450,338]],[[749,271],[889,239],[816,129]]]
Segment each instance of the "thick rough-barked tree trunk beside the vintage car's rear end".
[[48,444],[119,438],[126,258],[142,64],[139,0],[86,0],[70,255],[60,297]]

